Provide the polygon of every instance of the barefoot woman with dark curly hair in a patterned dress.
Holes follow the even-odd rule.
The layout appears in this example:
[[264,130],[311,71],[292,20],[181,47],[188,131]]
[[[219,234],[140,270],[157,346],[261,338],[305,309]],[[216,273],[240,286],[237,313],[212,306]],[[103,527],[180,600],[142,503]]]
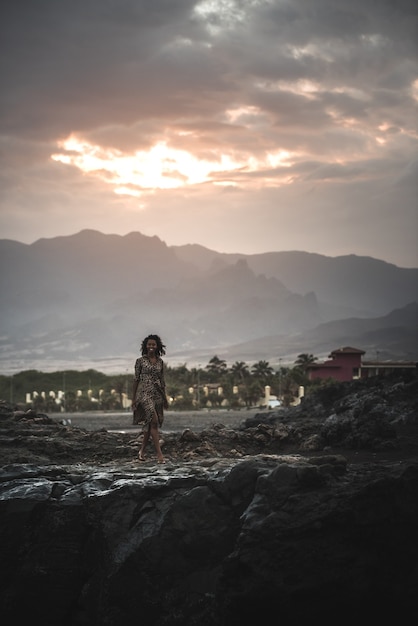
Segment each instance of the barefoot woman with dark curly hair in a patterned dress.
[[164,409],[168,408],[164,361],[161,358],[165,354],[165,345],[158,335],[148,335],[142,341],[141,354],[135,361],[132,388],[133,423],[140,424],[144,433],[138,458],[145,461],[145,448],[151,437],[158,463],[165,463],[159,433],[164,421]]

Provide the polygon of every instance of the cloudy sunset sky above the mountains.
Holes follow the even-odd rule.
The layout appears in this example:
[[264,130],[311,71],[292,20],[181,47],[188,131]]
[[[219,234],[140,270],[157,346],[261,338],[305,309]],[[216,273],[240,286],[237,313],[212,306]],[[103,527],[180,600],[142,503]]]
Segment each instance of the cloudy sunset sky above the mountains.
[[0,238],[418,267],[410,0],[13,0]]

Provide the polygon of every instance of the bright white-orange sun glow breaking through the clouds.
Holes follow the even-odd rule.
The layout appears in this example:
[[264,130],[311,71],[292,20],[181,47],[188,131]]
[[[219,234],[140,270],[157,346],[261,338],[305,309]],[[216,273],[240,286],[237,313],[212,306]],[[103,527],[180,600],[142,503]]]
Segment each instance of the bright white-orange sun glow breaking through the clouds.
[[231,157],[213,152],[213,160],[199,159],[186,150],[170,148],[160,141],[149,150],[124,154],[120,150],[103,148],[71,135],[58,144],[60,152],[51,159],[72,165],[83,173],[113,186],[115,193],[138,197],[156,189],[212,183],[234,185],[234,173],[257,172],[264,168],[289,167],[291,154],[278,150],[262,159],[253,156]]

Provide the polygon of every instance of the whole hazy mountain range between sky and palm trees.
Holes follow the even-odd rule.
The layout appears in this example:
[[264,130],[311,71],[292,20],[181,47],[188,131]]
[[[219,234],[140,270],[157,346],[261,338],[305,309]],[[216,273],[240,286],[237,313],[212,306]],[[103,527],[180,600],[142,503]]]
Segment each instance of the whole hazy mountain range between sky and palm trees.
[[352,346],[418,360],[418,269],[302,251],[220,253],[139,232],[0,240],[0,370],[132,369],[161,335],[167,362],[292,364]]

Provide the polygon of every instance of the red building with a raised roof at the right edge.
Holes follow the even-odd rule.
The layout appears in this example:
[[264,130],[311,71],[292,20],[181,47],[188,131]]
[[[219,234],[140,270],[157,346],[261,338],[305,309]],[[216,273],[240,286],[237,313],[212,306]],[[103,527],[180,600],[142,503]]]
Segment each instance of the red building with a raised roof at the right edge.
[[382,376],[399,370],[416,369],[412,361],[363,361],[364,350],[339,348],[329,355],[329,361],[312,363],[306,368],[309,380],[333,378],[338,381]]

